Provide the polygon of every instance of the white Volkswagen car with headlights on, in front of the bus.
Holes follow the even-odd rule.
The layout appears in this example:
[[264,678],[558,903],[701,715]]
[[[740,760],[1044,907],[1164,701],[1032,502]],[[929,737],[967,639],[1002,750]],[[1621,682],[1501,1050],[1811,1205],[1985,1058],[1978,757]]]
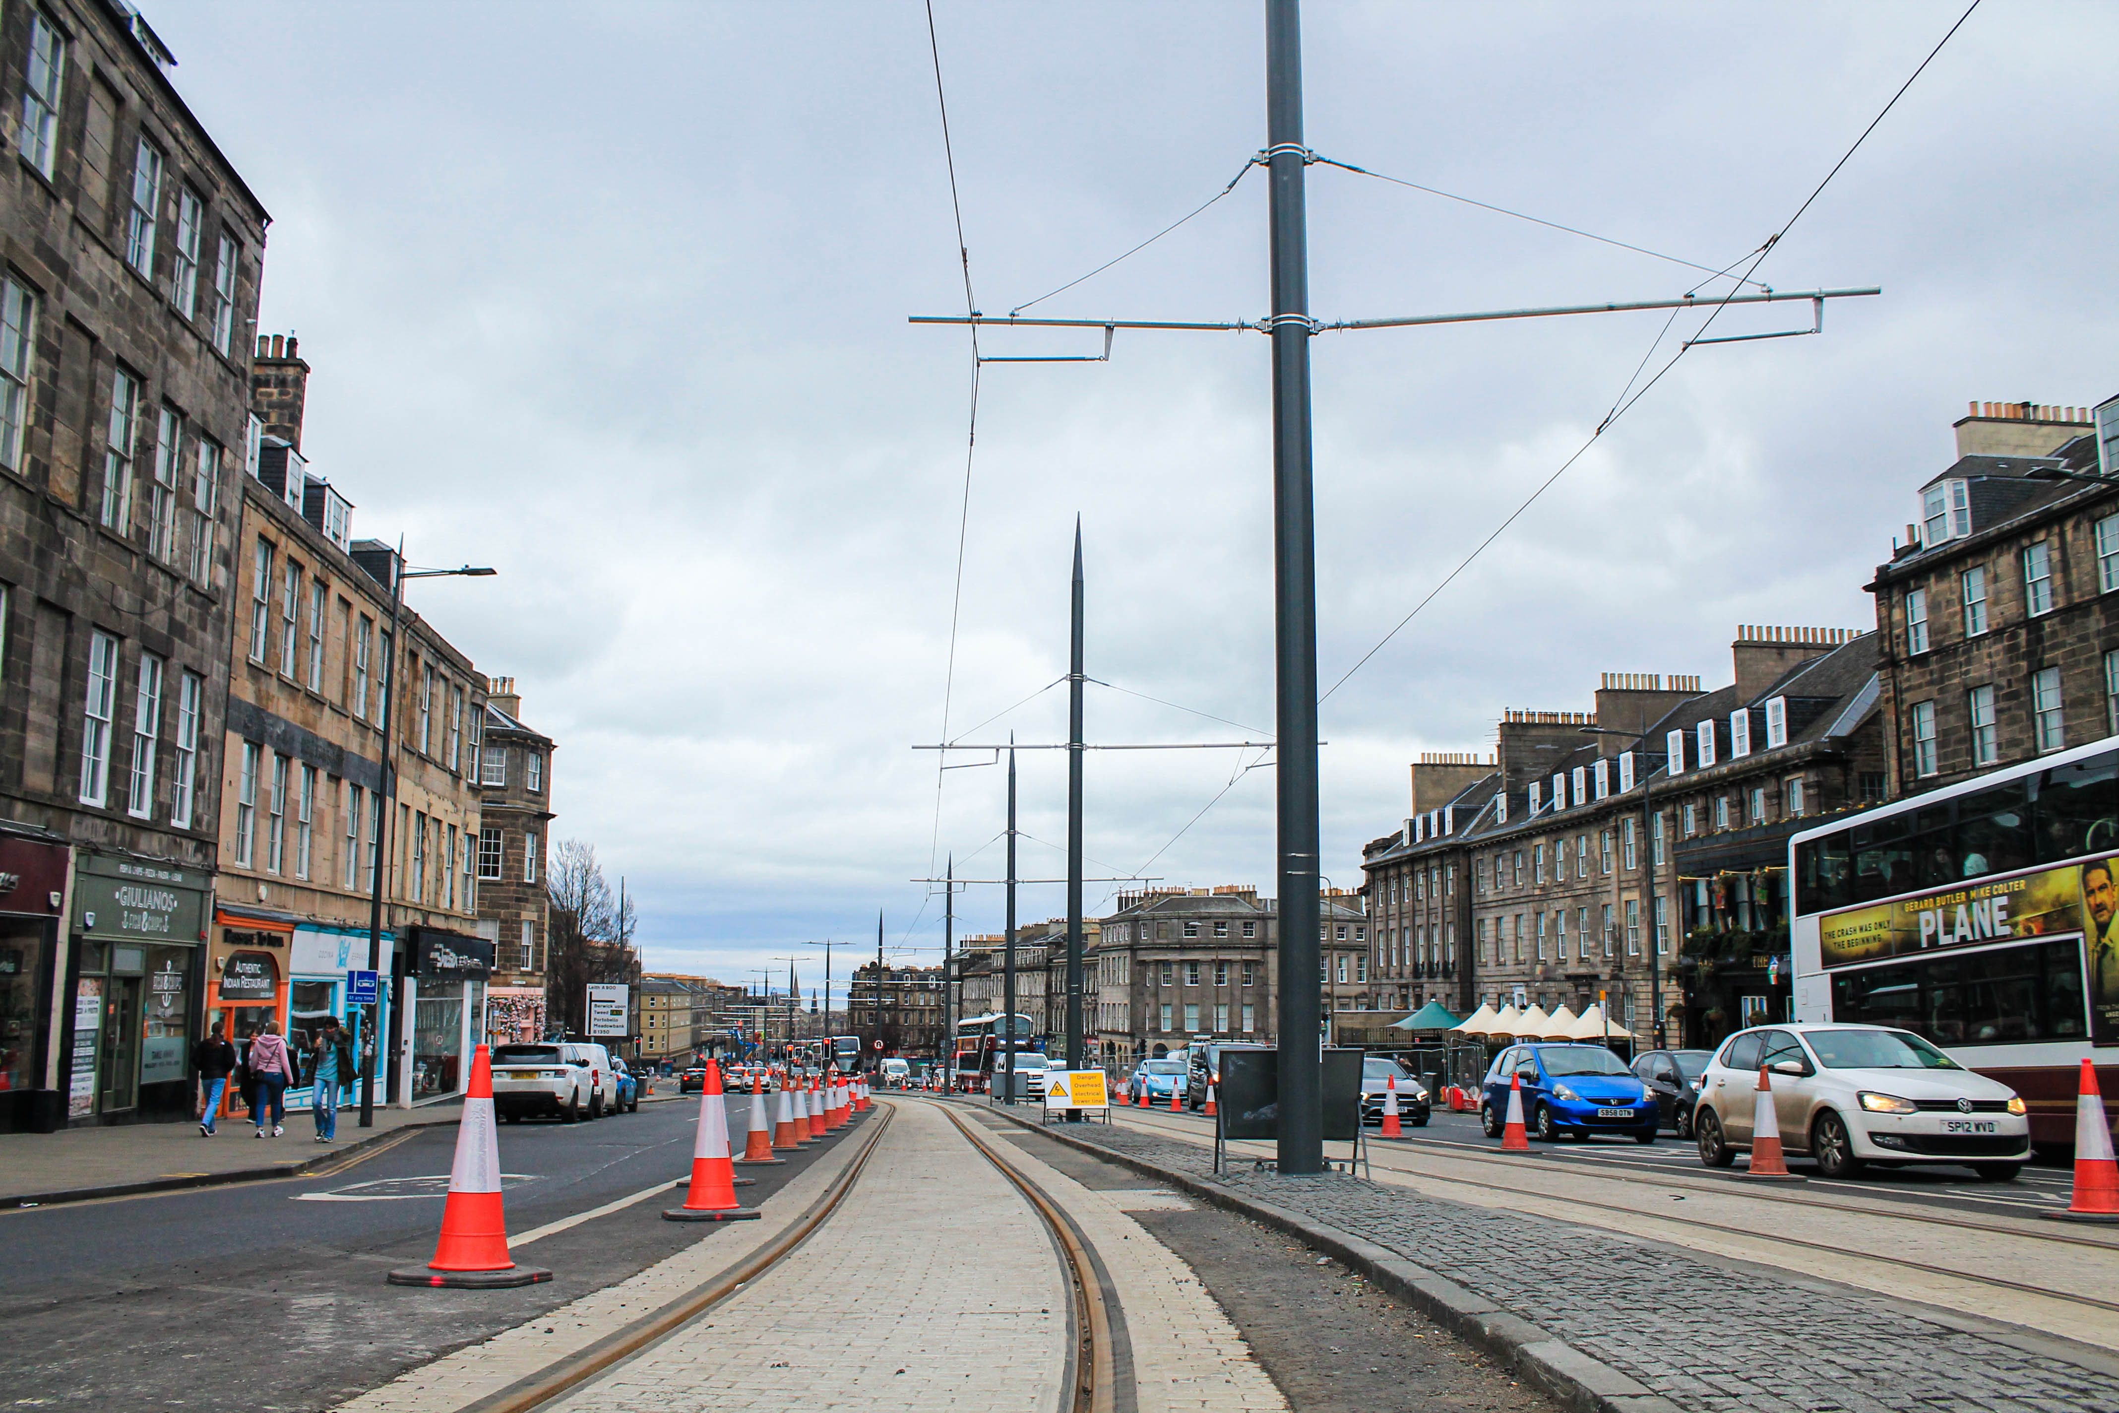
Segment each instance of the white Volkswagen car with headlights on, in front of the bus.
[[2030,1161],[2030,1119],[2013,1089],[1973,1074],[1909,1030],[1761,1025],[1729,1036],[1699,1076],[1699,1161],[1729,1167],[1750,1150],[1759,1066],[1788,1155],[1824,1178],[1863,1163],[1956,1163],[2009,1182]]

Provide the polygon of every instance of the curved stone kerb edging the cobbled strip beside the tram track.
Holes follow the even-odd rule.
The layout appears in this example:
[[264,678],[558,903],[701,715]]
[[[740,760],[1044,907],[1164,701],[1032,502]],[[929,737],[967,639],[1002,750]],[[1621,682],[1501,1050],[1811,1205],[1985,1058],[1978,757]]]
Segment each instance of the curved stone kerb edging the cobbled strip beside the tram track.
[[1214,1182],[1193,1178],[1191,1174],[1180,1174],[1172,1167],[1148,1163],[1146,1159],[1129,1152],[1104,1148],[1085,1138],[1074,1138],[1053,1125],[1032,1123],[1030,1119],[1007,1112],[1007,1108],[987,1106],[987,1112],[1034,1133],[1045,1133],[1068,1148],[1104,1159],[1106,1163],[1129,1167],[1144,1178],[1168,1182],[1170,1186],[1182,1188],[1199,1201],[1212,1203],[1225,1212],[1248,1216],[1257,1222],[1274,1227],[1276,1231],[1297,1237],[1305,1246],[1333,1256],[1354,1271],[1360,1271],[1377,1288],[1388,1290],[1407,1305],[1413,1305],[1458,1339],[1477,1345],[1504,1366],[1526,1377],[1553,1400],[1574,1409],[1577,1413],[1678,1413],[1678,1405],[1670,1402],[1661,1394],[1649,1392],[1649,1388],[1632,1375],[1613,1369],[1604,1360],[1583,1354],[1574,1345],[1555,1337],[1551,1330],[1511,1316],[1485,1296],[1473,1294],[1454,1280],[1413,1265],[1411,1260],[1405,1260],[1373,1241],[1365,1241],[1363,1237],[1339,1231],[1326,1222],[1299,1216],[1276,1203],[1244,1197]]

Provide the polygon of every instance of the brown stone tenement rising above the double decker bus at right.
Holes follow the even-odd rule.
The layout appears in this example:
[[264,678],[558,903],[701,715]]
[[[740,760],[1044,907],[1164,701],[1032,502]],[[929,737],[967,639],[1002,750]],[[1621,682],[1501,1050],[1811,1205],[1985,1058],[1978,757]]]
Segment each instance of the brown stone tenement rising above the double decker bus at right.
[[1869,583],[1894,794],[2119,731],[2119,485],[2081,479],[2119,475],[2119,398],[1975,405],[1956,443]]

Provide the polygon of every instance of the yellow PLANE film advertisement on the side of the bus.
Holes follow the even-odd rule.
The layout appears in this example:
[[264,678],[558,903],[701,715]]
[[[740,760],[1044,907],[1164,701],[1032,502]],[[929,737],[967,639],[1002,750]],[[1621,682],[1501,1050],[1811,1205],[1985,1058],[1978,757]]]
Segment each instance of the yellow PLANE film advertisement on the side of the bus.
[[2091,1044],[2119,1044],[2119,856],[1945,888],[1818,919],[1818,962],[1933,953],[2030,936],[2083,936]]

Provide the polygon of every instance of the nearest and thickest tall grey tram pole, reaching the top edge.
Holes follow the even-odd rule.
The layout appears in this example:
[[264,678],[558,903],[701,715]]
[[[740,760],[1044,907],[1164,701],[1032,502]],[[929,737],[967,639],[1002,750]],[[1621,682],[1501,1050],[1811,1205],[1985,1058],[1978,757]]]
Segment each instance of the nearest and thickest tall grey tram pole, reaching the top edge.
[[1318,587],[1310,491],[1310,248],[1303,214],[1303,38],[1297,0],[1265,0],[1271,180],[1274,684],[1280,847],[1280,1171],[1324,1169],[1318,1032]]

